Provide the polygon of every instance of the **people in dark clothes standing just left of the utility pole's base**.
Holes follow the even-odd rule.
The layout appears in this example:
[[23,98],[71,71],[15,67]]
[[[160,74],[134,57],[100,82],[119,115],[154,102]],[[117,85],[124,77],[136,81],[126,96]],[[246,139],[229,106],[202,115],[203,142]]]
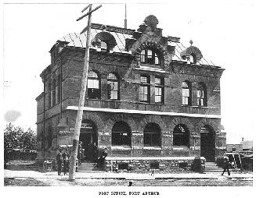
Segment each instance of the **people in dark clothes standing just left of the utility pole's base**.
[[62,171],[64,175],[67,175],[67,171],[69,171],[70,166],[70,155],[67,150],[64,150],[63,152],[62,150],[59,150],[59,153],[56,155],[56,161],[58,175],[61,175]]

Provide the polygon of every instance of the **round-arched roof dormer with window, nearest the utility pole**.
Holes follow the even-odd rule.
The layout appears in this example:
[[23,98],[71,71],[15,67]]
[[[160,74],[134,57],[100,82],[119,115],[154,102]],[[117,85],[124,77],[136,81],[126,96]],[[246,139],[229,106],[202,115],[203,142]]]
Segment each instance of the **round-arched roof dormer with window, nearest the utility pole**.
[[103,31],[96,34],[96,37],[92,40],[92,45],[102,50],[112,51],[117,45],[117,41],[112,34]]

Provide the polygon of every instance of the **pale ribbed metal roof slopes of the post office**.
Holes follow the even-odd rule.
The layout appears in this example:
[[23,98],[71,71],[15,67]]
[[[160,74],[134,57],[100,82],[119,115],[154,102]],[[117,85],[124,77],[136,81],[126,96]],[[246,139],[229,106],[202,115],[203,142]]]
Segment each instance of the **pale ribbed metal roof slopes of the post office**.
[[[135,32],[135,30],[124,29],[121,27],[112,27],[112,26],[105,26],[104,28],[104,26],[101,24],[92,23],[92,29],[91,29],[91,35],[90,35],[91,42],[95,41],[96,35],[103,31],[112,34],[117,42],[117,45],[113,48],[113,52],[132,55],[132,51],[127,51],[125,48],[125,40],[127,38],[134,39],[133,33]],[[86,47],[86,31],[84,31],[82,34],[79,34],[79,33],[67,34],[66,36],[60,38],[59,41],[68,42],[67,46],[85,48]],[[186,48],[182,43],[179,42],[179,38],[178,40],[176,39],[175,41],[169,40],[168,44],[171,46],[175,46],[175,54],[172,56],[172,60],[179,61],[179,62],[187,62],[186,59],[182,58],[182,53],[184,53],[184,51],[186,51],[188,48]],[[96,48],[96,46],[93,46],[92,44],[90,48],[94,48],[99,51],[99,48]],[[197,64],[215,66],[213,62],[204,58],[203,55]]]

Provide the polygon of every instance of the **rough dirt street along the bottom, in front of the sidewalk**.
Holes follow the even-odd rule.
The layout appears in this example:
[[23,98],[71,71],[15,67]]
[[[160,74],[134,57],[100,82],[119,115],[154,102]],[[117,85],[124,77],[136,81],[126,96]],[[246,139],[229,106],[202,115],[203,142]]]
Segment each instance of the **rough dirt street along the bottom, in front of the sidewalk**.
[[253,186],[252,179],[31,179],[5,178],[5,186]]

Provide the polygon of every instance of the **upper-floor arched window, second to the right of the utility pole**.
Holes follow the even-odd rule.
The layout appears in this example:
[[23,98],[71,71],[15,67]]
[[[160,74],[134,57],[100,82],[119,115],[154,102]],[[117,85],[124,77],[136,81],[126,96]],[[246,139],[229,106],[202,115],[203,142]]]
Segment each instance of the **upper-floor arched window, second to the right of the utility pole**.
[[118,100],[119,99],[119,82],[117,76],[114,73],[110,73],[107,76],[107,93],[108,99]]

